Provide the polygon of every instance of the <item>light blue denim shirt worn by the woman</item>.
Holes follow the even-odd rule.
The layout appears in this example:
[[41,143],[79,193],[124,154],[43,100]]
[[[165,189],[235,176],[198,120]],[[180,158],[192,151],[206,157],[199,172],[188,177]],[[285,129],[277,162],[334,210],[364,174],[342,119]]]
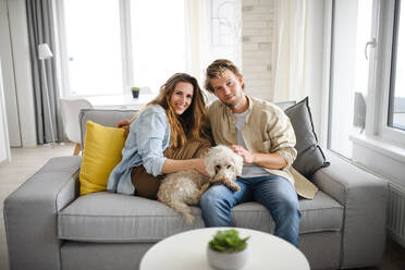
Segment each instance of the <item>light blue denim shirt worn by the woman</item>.
[[133,195],[132,168],[143,164],[147,173],[161,174],[163,151],[170,142],[170,126],[164,109],[159,105],[149,106],[131,124],[130,133],[122,149],[122,160],[112,170],[107,189]]

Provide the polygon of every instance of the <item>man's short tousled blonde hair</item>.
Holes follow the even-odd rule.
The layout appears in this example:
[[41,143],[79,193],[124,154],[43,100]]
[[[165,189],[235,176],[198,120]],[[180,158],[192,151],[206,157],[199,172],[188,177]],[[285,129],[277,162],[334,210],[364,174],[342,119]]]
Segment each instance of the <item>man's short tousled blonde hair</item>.
[[[226,59],[217,59],[207,68],[205,88],[210,93],[214,93],[211,84],[209,83],[212,78],[219,78],[223,76],[223,73],[229,70],[233,72],[237,77],[242,76],[237,66]],[[242,85],[242,89],[245,88],[245,83]]]

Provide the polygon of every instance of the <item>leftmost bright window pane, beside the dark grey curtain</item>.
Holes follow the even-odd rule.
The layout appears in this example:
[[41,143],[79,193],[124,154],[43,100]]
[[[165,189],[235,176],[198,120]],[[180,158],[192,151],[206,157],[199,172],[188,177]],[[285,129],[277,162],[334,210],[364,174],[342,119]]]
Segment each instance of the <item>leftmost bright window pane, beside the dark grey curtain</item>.
[[70,95],[122,93],[119,2],[69,0],[64,11]]

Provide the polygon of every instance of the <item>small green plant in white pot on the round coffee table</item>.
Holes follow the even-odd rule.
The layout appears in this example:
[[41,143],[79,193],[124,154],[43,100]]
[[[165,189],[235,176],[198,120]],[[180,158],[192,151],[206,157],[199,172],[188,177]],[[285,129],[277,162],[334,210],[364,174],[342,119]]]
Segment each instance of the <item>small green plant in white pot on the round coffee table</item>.
[[208,262],[216,269],[241,269],[247,261],[247,240],[241,238],[236,230],[218,231],[208,243]]

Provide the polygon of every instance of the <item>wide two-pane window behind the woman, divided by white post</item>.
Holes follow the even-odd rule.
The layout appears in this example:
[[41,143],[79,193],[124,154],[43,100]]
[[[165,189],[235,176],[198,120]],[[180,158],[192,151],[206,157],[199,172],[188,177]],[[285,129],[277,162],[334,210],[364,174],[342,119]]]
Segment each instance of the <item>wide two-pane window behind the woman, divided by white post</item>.
[[184,0],[64,0],[61,15],[63,96],[159,87],[186,72]]

